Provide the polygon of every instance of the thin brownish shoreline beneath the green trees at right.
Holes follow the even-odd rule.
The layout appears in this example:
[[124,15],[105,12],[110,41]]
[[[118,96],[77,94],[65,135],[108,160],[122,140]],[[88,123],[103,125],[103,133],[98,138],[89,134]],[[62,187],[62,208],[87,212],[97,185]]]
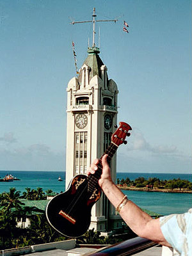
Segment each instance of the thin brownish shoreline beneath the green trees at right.
[[191,190],[179,190],[179,189],[159,189],[159,188],[136,188],[136,187],[127,187],[116,185],[119,189],[122,190],[132,190],[132,191],[146,191],[146,192],[161,192],[161,193],[188,193],[191,194]]

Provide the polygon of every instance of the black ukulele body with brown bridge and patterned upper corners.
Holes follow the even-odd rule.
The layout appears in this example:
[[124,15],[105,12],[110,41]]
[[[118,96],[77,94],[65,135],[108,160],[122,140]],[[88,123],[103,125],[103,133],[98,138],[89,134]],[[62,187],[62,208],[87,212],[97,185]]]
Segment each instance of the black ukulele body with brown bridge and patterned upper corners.
[[88,176],[76,175],[67,191],[54,196],[47,204],[47,220],[64,236],[82,236],[90,226],[92,206],[100,196],[99,184],[92,189]]

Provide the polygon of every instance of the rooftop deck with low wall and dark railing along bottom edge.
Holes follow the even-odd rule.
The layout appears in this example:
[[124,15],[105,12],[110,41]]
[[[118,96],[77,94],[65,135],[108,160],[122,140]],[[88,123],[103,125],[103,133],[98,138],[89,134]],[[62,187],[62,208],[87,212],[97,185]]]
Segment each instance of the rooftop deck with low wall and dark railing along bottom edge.
[[[99,248],[100,247],[100,248]],[[36,244],[34,246],[27,246],[24,248],[14,248],[10,250],[1,250],[0,255],[30,255],[30,256],[122,256],[122,255],[136,255],[136,256],[161,256],[162,247],[156,243],[135,237],[122,243],[111,246],[83,244],[79,246],[76,240],[61,241],[49,244]]]

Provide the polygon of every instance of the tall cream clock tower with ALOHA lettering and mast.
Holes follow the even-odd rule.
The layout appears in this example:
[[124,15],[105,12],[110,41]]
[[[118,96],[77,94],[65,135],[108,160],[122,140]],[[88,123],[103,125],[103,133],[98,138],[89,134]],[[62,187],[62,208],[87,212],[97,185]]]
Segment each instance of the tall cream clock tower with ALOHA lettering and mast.
[[[95,21],[108,20],[95,20],[95,8],[92,16],[93,45],[88,47],[88,56],[78,77],[73,77],[67,86],[66,188],[75,175],[86,175],[92,161],[104,154],[116,130],[118,88],[115,81],[108,78],[108,68],[100,59],[100,49],[94,39]],[[115,181],[116,154],[110,164]],[[121,227],[122,219],[102,194],[93,205],[90,228],[109,232]]]

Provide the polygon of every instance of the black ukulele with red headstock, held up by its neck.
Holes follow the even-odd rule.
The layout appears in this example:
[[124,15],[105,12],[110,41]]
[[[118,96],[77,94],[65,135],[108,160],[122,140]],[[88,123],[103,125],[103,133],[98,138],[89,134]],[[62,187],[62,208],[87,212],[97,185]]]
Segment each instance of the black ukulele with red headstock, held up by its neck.
[[[131,127],[124,122],[119,124],[111,136],[108,149],[104,152],[108,154],[108,163],[118,146],[127,143],[126,136],[130,136]],[[98,170],[94,174],[76,175],[67,191],[54,196],[47,204],[45,212],[49,224],[64,236],[82,236],[90,226],[92,206],[101,196],[98,180],[102,174],[102,157],[97,166]]]

